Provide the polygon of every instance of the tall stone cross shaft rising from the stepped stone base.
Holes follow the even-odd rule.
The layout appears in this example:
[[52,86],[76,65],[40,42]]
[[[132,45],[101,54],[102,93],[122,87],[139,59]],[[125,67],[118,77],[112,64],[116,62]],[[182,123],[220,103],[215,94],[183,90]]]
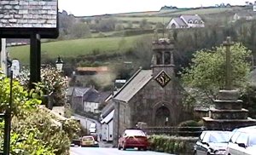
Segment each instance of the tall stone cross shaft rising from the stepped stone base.
[[226,47],[226,79],[225,79],[225,89],[230,90],[232,89],[232,85],[231,85],[231,62],[230,62],[230,47],[234,44],[233,42],[231,42],[231,37],[227,37],[227,40],[224,41],[224,46]]

